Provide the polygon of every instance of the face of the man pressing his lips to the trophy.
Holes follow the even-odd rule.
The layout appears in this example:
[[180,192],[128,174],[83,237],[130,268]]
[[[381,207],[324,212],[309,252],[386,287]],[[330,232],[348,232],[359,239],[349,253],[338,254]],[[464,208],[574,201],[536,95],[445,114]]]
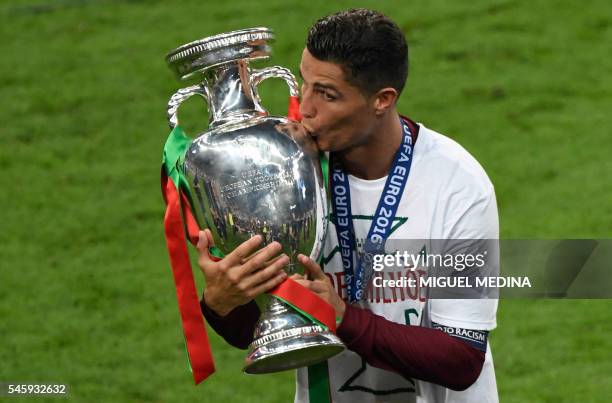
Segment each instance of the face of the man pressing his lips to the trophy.
[[342,68],[308,49],[300,63],[302,124],[322,151],[348,151],[368,141],[376,122],[372,101],[350,84]]

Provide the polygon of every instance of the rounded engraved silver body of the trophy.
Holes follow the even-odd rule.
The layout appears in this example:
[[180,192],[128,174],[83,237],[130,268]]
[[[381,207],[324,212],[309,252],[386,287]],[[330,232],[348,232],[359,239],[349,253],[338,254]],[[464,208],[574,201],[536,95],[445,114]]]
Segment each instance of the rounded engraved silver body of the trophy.
[[217,247],[229,253],[261,234],[281,243],[292,273],[298,253],[320,253],[326,204],[319,165],[283,123],[261,116],[213,129],[192,142],[184,172],[196,220]]

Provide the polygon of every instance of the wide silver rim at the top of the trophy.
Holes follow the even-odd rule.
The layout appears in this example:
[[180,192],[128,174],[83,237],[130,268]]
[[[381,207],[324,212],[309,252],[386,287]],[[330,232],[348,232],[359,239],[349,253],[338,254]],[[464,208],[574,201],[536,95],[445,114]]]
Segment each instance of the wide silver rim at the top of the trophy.
[[180,46],[166,55],[166,63],[180,80],[214,66],[240,59],[265,59],[274,40],[270,28],[241,29],[209,36]]

